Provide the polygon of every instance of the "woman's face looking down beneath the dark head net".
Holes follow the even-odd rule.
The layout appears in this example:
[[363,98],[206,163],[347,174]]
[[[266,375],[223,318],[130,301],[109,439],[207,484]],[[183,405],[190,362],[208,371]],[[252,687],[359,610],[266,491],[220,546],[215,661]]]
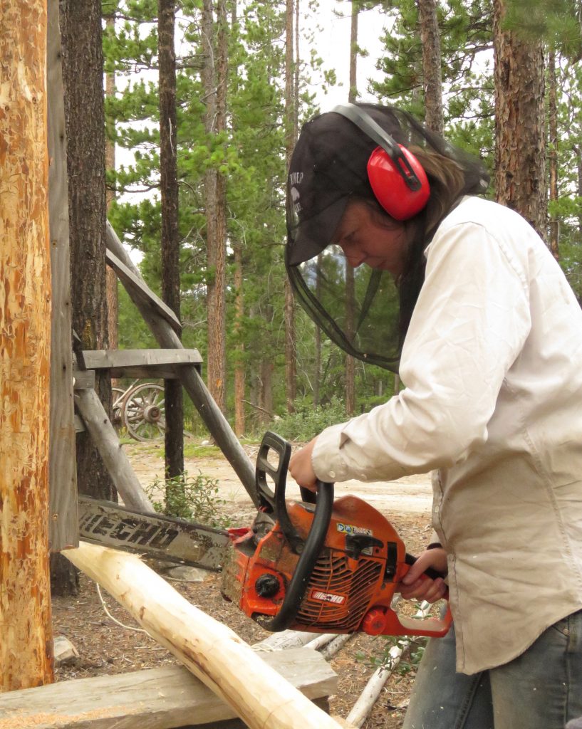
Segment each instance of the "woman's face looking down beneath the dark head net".
[[408,247],[404,223],[388,215],[382,222],[363,200],[348,203],[333,243],[341,247],[354,268],[365,263],[370,268],[387,270],[396,278],[403,273]]

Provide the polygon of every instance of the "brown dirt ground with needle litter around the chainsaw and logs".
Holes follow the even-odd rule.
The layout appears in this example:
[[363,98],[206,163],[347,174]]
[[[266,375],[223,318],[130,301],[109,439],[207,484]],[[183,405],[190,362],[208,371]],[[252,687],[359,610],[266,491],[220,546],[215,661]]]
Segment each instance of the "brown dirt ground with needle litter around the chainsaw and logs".
[[[148,486],[163,473],[162,451],[152,443],[131,443],[124,448],[143,486]],[[245,446],[252,461],[257,447]],[[217,449],[216,449],[217,450]],[[201,458],[186,459],[186,469],[191,475],[201,472],[217,479],[220,496],[227,502],[223,509],[228,513],[231,526],[249,526],[255,511],[247,492],[236,474],[217,451],[208,453],[205,448]],[[288,497],[298,494],[294,483],[287,485]],[[336,484],[335,496],[356,494],[367,499],[376,509],[389,518],[404,540],[410,553],[418,553],[430,535],[431,491],[428,477],[407,478],[390,483],[362,484],[347,482]],[[254,621],[243,615],[233,604],[220,595],[220,576],[203,573],[200,582],[171,580],[171,585],[192,604],[225,623],[249,644],[268,636]],[[85,678],[153,668],[176,659],[160,647],[150,636],[138,631],[130,615],[107,593],[102,593],[106,608],[112,617],[123,623],[122,627],[106,614],[94,582],[81,576],[81,591],[74,598],[53,598],[53,630],[64,635],[77,647],[79,658],[57,668],[57,680]],[[392,639],[393,640],[393,639]],[[381,658],[391,647],[386,638],[374,638],[365,634],[352,639],[330,660],[330,666],[338,674],[336,695],[330,698],[331,713],[346,717],[373,674],[373,660]],[[400,670],[389,678],[373,712],[366,720],[364,729],[398,729],[402,726],[408,704],[414,672],[408,673],[411,664],[408,654],[403,655]]]

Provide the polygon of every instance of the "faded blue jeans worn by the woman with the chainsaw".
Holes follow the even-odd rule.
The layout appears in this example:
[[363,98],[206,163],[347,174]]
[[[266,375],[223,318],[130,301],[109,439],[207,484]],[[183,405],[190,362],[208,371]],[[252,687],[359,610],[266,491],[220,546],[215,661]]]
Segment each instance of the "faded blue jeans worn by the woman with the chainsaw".
[[564,729],[581,715],[582,610],[518,658],[473,676],[455,671],[453,628],[431,639],[403,729]]

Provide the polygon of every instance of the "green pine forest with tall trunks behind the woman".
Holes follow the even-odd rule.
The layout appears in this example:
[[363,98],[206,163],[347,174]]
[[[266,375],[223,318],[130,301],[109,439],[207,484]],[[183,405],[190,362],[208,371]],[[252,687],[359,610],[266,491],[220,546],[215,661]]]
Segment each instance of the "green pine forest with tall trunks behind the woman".
[[[238,436],[276,419],[311,437],[397,387],[320,336],[284,270],[290,152],[303,121],[342,96],[408,109],[481,157],[487,195],[532,222],[582,301],[578,3],[103,0],[101,12],[108,218],[179,313]],[[365,14],[375,30],[358,33]],[[330,52],[337,15],[352,32]],[[516,104],[527,134],[504,141]],[[107,346],[155,346],[123,287],[109,290],[108,332]],[[187,402],[185,428],[202,432]]]

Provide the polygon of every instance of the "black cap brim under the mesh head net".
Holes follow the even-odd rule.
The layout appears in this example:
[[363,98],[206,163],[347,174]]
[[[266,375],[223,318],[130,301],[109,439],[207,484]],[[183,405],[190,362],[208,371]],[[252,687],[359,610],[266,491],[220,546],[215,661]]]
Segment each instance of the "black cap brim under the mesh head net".
[[287,265],[297,266],[318,256],[332,242],[333,234],[346,210],[349,195],[343,195],[313,217],[290,231]]

